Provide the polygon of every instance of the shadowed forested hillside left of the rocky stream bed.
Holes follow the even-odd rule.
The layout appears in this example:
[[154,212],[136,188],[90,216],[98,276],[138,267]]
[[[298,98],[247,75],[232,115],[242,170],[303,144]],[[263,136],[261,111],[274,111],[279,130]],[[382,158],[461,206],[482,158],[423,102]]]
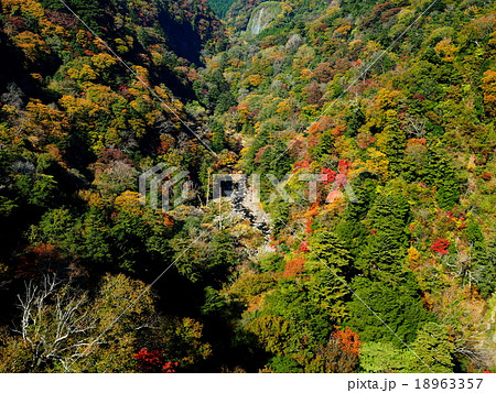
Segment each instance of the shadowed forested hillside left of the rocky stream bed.
[[[202,121],[217,85],[197,66],[224,28],[204,1],[68,3],[0,1],[0,370],[198,370],[212,347],[193,319],[206,284],[194,283],[215,271],[219,285],[238,250],[141,206],[138,175],[168,163],[197,182],[212,165]],[[141,296],[190,236],[196,268]],[[197,296],[168,306],[176,287]],[[20,299],[39,313],[22,327]]]

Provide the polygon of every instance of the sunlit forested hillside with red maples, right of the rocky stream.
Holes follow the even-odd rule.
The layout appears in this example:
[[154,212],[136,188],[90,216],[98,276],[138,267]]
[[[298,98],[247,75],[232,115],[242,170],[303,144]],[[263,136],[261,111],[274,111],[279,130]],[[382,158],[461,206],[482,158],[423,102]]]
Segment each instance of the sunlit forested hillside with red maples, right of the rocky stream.
[[[246,36],[263,4],[233,6],[238,40],[207,69],[231,84],[217,121],[276,226],[227,290],[266,370],[494,368],[494,3],[282,1]],[[293,200],[267,174],[292,174]],[[302,174],[327,177],[316,199]]]

